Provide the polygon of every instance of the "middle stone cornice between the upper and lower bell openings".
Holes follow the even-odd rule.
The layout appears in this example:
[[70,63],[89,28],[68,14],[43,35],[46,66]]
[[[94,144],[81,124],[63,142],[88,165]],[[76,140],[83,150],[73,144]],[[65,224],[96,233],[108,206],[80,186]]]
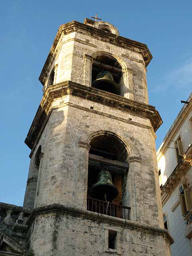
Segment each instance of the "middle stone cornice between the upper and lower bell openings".
[[93,102],[98,102],[122,111],[130,112],[141,117],[149,118],[154,128],[154,132],[162,124],[162,119],[154,106],[129,100],[122,96],[104,92],[95,88],[84,86],[71,81],[62,82],[49,86],[42,98],[40,106],[36,112],[25,143],[32,149],[40,131],[43,129],[44,123],[52,110],[52,102],[55,98],[73,95]]

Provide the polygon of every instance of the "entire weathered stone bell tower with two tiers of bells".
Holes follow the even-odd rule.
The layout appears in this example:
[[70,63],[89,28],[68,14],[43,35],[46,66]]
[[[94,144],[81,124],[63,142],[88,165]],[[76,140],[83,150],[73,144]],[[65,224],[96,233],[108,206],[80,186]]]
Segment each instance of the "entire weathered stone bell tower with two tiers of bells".
[[151,59],[146,44],[108,22],[60,26],[25,140],[35,255],[170,255],[155,148],[162,120],[148,104]]

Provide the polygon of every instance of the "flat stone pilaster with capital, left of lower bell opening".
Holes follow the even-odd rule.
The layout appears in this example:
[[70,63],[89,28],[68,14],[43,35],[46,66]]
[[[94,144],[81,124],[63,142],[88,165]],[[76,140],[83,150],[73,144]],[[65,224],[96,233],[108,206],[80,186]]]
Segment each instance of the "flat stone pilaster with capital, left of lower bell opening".
[[87,179],[88,179],[88,158],[90,145],[79,142],[79,167],[76,188],[76,207],[86,210],[87,206]]

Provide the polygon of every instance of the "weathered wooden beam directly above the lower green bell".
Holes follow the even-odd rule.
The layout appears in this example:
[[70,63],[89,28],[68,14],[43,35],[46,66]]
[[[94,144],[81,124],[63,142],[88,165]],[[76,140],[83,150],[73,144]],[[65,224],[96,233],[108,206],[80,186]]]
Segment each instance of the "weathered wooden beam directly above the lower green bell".
[[98,171],[101,171],[102,168],[108,168],[111,174],[118,174],[118,175],[124,175],[126,172],[126,169],[118,168],[116,166],[111,166],[107,164],[102,164],[100,162],[95,162],[93,160],[89,160],[89,168],[93,170],[98,170]]

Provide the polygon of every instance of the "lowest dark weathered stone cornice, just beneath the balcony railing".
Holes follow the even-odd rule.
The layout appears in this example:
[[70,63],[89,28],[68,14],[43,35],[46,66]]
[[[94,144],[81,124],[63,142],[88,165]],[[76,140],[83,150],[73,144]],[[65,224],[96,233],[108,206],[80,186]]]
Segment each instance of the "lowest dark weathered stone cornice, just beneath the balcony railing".
[[32,214],[30,215],[30,217],[28,218],[26,225],[30,225],[31,222],[34,220],[35,216],[39,214],[46,214],[46,213],[55,212],[55,211],[60,211],[62,213],[70,214],[72,216],[83,217],[89,220],[94,220],[96,222],[102,221],[104,223],[113,224],[115,226],[123,226],[124,228],[130,228],[132,230],[135,230],[135,229],[142,230],[146,233],[154,233],[160,236],[166,236],[170,244],[174,242],[173,238],[170,236],[168,230],[166,229],[158,228],[155,226],[149,226],[146,224],[141,224],[138,222],[133,222],[131,220],[124,220],[121,218],[116,218],[116,217],[100,214],[97,212],[90,212],[90,211],[81,210],[78,208],[71,208],[61,204],[51,204],[48,206],[35,208],[32,211]]

